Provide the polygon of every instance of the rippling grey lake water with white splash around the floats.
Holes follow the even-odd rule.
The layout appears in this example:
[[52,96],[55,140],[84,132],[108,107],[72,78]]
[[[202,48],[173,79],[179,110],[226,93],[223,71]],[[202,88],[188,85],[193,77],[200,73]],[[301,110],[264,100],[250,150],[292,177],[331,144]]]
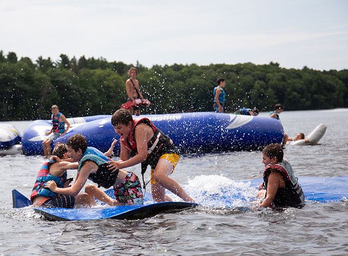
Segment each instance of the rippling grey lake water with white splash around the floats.
[[[284,111],[280,120],[291,137],[307,135],[320,123],[328,126],[319,145],[285,148],[297,177],[348,175],[348,109]],[[6,123],[23,132],[30,122]],[[243,180],[262,178],[261,158],[261,152],[186,155],[171,177],[204,204],[202,191],[214,195],[221,186],[233,189]],[[52,222],[31,208],[12,208],[11,190],[29,196],[44,158],[16,155],[0,161],[0,255],[348,255],[346,201],[311,201],[285,211],[202,206],[134,221]],[[128,170],[140,175],[140,166]]]

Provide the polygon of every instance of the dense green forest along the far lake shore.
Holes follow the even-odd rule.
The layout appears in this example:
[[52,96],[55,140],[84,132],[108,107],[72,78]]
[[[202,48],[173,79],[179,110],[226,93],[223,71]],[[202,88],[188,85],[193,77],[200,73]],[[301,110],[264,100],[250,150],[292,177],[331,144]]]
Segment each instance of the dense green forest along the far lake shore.
[[52,104],[67,117],[113,114],[127,101],[125,81],[130,67],[139,71],[140,90],[151,105],[142,114],[213,111],[216,79],[226,79],[225,112],[256,107],[273,110],[348,108],[348,70],[285,69],[268,65],[195,64],[144,67],[122,61],[70,58],[58,60],[0,51],[0,120],[49,119]]

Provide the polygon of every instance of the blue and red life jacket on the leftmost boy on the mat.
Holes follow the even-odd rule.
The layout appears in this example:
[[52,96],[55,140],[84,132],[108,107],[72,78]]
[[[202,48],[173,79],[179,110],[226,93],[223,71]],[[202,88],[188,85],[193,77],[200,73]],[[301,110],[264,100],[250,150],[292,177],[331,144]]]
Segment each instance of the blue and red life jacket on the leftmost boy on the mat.
[[51,160],[47,160],[44,164],[41,165],[39,173],[37,174],[37,178],[33,187],[33,190],[30,195],[30,200],[33,202],[35,197],[42,196],[47,198],[55,198],[58,196],[57,193],[54,193],[49,188],[45,188],[46,182],[49,180],[55,181],[57,187],[63,187],[64,183],[67,180],[67,172],[65,172],[61,177],[54,176],[50,174],[50,165],[54,162]]

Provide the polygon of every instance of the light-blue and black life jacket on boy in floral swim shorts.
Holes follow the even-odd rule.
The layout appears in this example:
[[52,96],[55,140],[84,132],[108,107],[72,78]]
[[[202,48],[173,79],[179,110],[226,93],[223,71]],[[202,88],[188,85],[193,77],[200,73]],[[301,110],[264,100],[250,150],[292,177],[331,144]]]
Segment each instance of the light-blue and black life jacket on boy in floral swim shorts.
[[102,186],[105,188],[109,188],[115,184],[118,177],[118,170],[112,172],[112,170],[108,169],[107,162],[110,160],[108,160],[104,153],[95,147],[88,146],[79,161],[78,173],[86,161],[93,161],[98,165],[97,172],[90,174],[88,177],[89,180],[97,183],[99,187]]

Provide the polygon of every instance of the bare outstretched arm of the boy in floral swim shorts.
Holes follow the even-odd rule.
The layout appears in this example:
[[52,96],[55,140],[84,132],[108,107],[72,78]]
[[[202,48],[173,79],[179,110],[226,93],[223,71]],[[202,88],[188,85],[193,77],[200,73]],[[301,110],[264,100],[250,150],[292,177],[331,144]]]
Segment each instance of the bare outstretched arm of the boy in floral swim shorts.
[[98,165],[96,163],[92,161],[88,161],[85,164],[83,164],[79,175],[76,176],[77,178],[73,186],[60,188],[60,187],[57,187],[57,184],[54,181],[50,180],[45,184],[45,187],[51,189],[53,192],[58,194],[76,197],[78,193],[81,191],[84,184],[86,183],[91,172],[94,172],[97,169],[98,169]]

